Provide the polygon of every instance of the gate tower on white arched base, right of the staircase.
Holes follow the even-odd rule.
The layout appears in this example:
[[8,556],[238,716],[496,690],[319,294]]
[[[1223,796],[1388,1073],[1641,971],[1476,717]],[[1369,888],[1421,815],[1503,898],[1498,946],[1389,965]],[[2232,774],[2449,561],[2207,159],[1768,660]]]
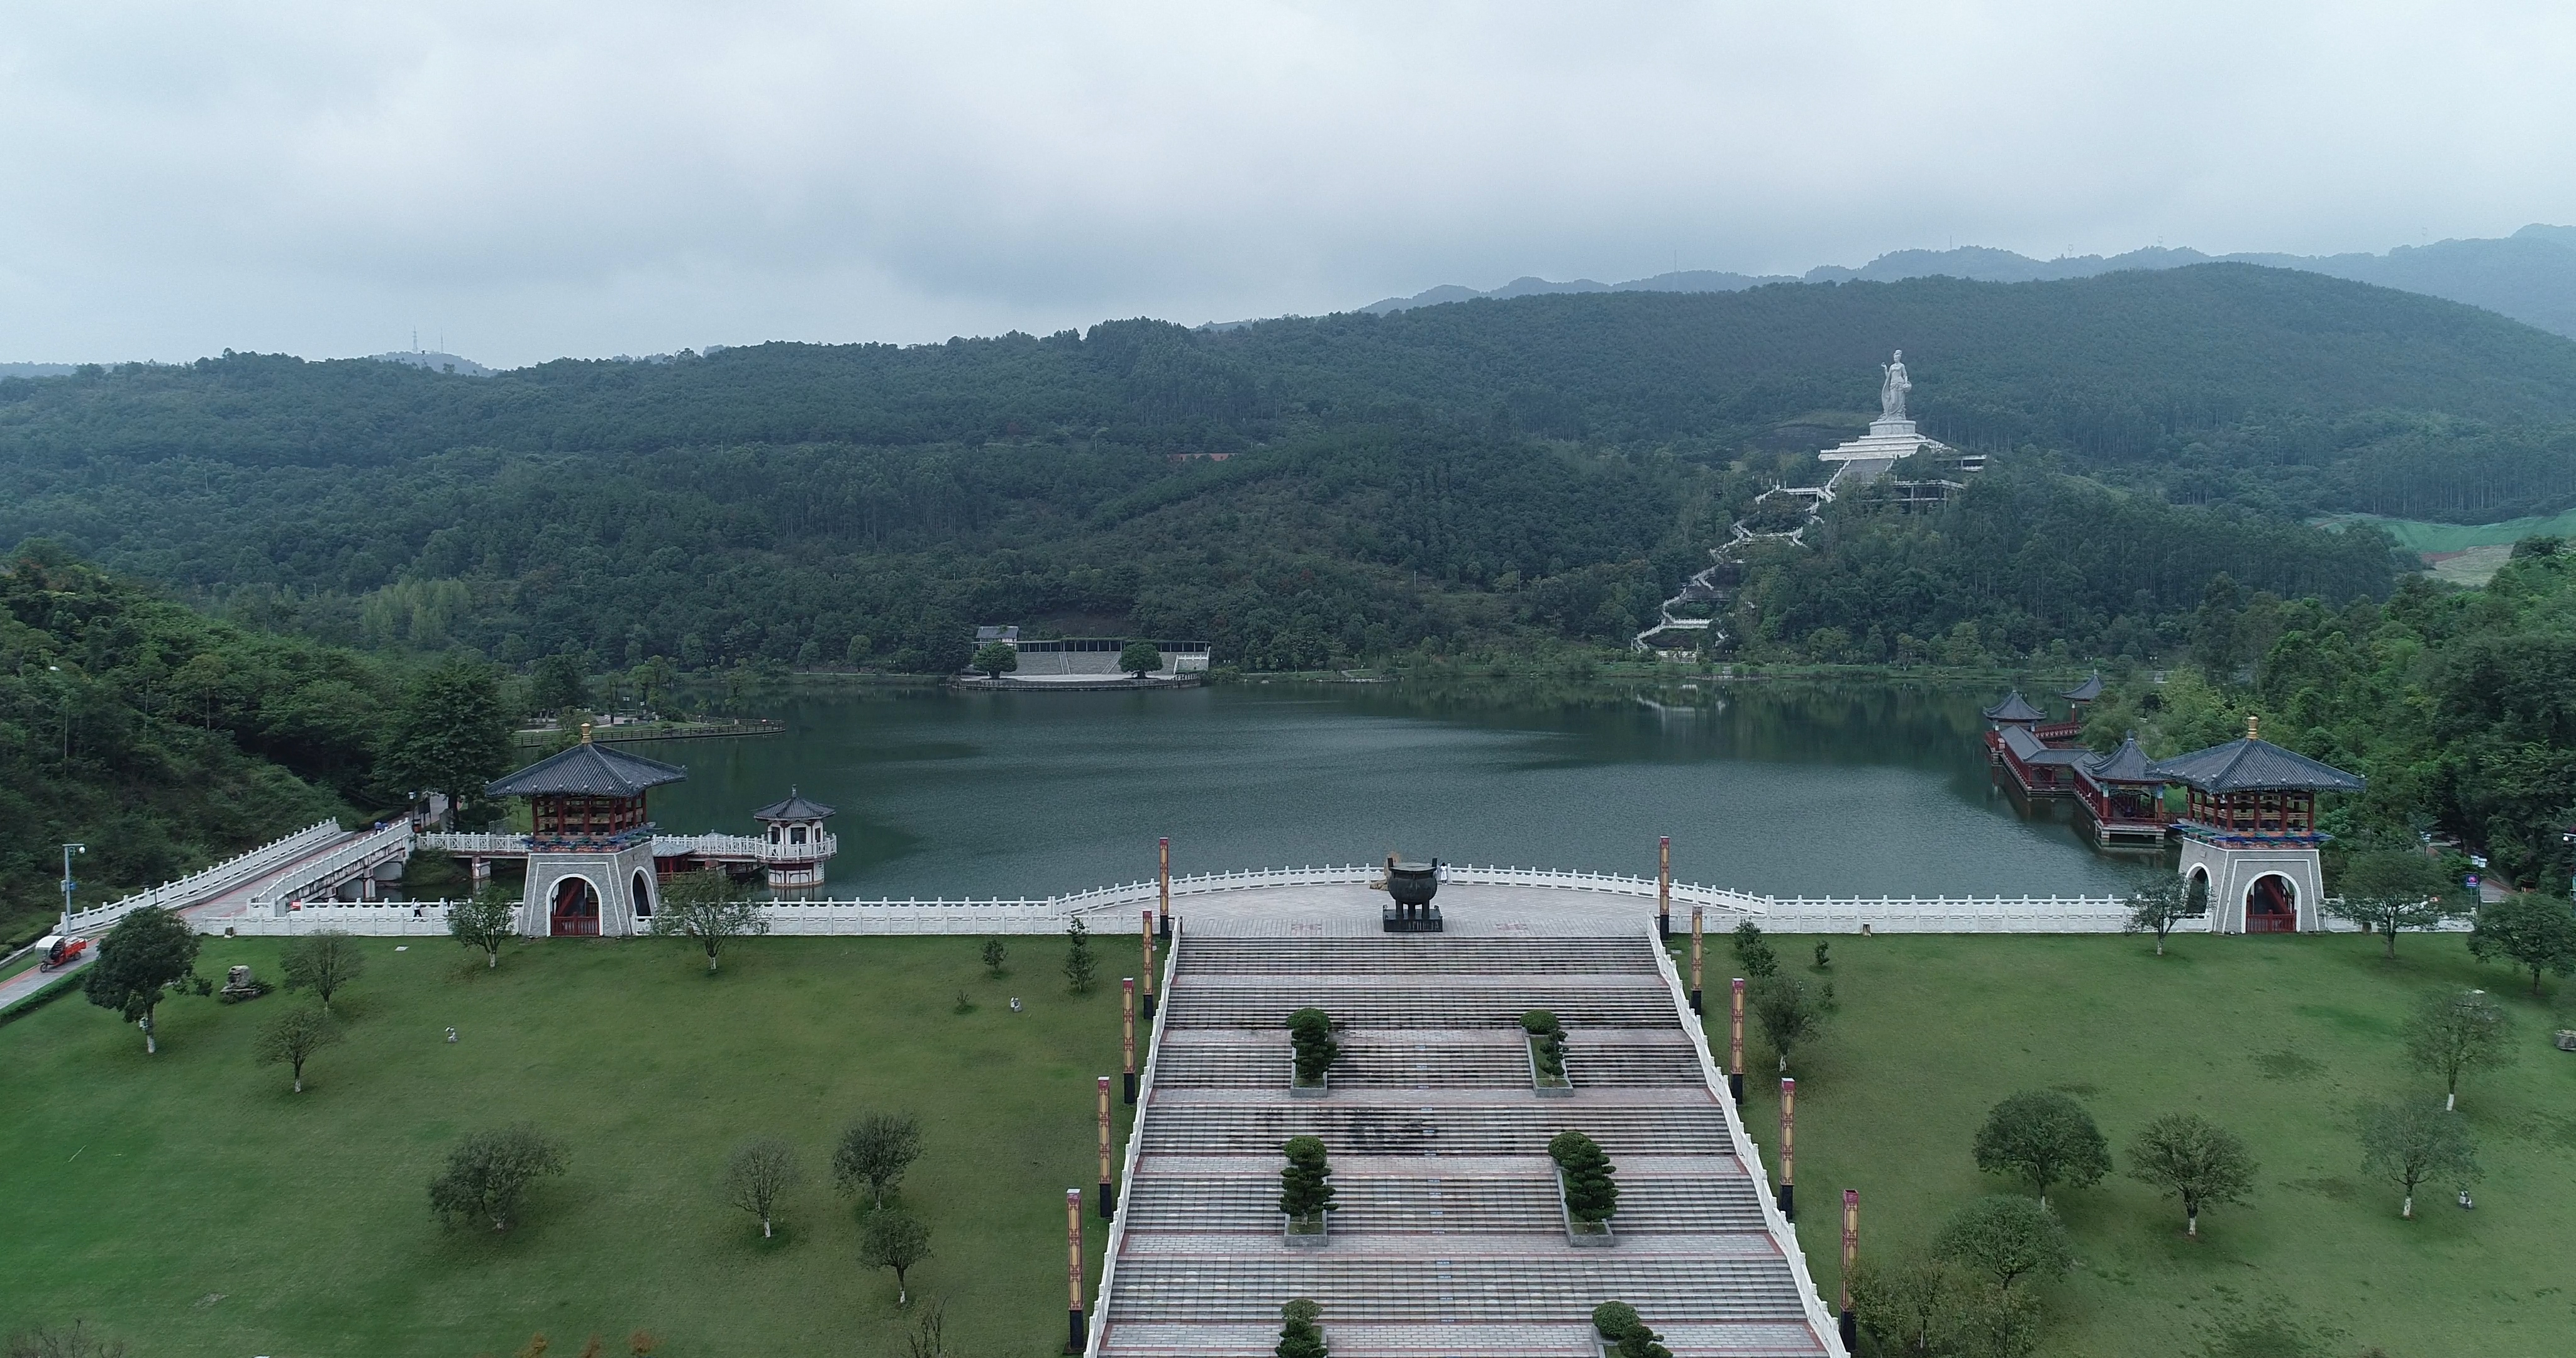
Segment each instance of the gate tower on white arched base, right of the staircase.
[[2318,928],[2326,894],[2316,850],[2316,796],[2362,791],[2357,773],[2262,740],[2246,716],[2244,740],[2151,765],[2154,778],[2187,789],[2182,819],[2184,881],[2210,904],[2215,933],[2300,933]]

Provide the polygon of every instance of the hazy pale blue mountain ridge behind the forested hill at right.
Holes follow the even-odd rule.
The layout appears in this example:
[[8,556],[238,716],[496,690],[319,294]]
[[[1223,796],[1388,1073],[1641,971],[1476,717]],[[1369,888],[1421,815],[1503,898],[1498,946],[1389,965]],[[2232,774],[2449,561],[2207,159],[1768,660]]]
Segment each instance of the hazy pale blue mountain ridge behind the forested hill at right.
[[1633,278],[1625,283],[1595,283],[1574,278],[1551,283],[1546,278],[1512,278],[1510,283],[1476,291],[1455,283],[1417,291],[1414,296],[1388,296],[1360,307],[1388,314],[1443,301],[1468,301],[1476,296],[1512,299],[1558,291],[1744,291],[1762,283],[1893,283],[1899,278],[1973,278],[1978,283],[2053,283],[2066,278],[2092,278],[2128,268],[2182,268],[2195,263],[2259,263],[2269,268],[2298,268],[2378,283],[2383,289],[2416,291],[2486,307],[2488,312],[2519,320],[2553,335],[2576,338],[2576,227],[2530,224],[2504,240],[2442,240],[2434,245],[2398,245],[2385,255],[2202,255],[2200,250],[2130,250],[2125,255],[2063,255],[2032,260],[2012,250],[1986,245],[1960,245],[1955,250],[1896,250],[1878,255],[1860,268],[1819,265],[1801,276],[1788,273],[1716,273],[1682,271]]

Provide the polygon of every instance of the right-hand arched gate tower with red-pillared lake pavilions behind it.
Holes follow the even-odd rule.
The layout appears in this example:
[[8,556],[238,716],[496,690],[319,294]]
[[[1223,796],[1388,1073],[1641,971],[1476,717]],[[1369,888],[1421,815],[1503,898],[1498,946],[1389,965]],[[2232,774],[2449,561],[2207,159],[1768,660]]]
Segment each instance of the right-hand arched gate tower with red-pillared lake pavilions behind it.
[[[2316,827],[2318,794],[2362,791],[2360,773],[2311,760],[2262,740],[2246,716],[2244,740],[2151,760],[2138,737],[2102,755],[2084,747],[2084,703],[2102,696],[2102,675],[2058,693],[2063,722],[2020,691],[1986,709],[1986,758],[2025,804],[2069,799],[2102,848],[2182,843],[2177,871],[2205,902],[2218,933],[2306,933],[2321,928],[2326,897]],[[2182,789],[2182,814],[2166,789]]]

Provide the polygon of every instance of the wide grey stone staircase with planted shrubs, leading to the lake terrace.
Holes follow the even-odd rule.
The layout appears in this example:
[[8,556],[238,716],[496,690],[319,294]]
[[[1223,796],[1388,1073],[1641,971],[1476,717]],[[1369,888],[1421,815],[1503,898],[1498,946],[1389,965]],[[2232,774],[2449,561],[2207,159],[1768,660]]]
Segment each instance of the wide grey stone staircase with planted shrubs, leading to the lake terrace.
[[[1285,1018],[1334,1018],[1324,1098],[1291,1098]],[[1566,1026],[1569,1098],[1530,1087],[1525,1010]],[[1546,1144],[1618,1165],[1610,1247],[1577,1247]],[[1321,1136],[1337,1209],[1288,1245],[1280,1147]],[[1100,1355],[1265,1355],[1309,1296],[1350,1358],[1595,1353],[1628,1301],[1680,1358],[1839,1355],[1759,1165],[1631,938],[1203,938],[1182,928],[1113,1237]]]

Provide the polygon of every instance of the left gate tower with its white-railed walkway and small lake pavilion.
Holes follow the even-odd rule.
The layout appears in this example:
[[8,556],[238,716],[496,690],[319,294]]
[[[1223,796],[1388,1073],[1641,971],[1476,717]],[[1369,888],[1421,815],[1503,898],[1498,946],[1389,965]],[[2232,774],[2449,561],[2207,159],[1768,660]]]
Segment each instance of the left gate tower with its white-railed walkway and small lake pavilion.
[[822,886],[824,863],[840,850],[824,830],[832,807],[788,789],[783,801],[752,812],[760,835],[659,835],[647,799],[680,778],[688,768],[600,745],[585,724],[580,745],[484,786],[484,796],[528,804],[526,835],[417,843],[466,858],[477,881],[497,858],[526,861],[520,933],[528,938],[649,933],[662,881],[685,871],[757,874],[773,892]]

